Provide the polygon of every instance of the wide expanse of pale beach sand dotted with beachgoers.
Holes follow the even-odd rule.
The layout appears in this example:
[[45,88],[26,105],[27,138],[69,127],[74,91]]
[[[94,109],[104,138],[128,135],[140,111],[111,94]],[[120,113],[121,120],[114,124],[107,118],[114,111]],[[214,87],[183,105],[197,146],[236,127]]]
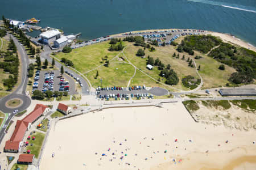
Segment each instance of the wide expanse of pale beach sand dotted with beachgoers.
[[255,140],[255,130],[196,123],[182,103],[105,109],[57,122],[40,169],[255,169],[245,157],[256,155]]

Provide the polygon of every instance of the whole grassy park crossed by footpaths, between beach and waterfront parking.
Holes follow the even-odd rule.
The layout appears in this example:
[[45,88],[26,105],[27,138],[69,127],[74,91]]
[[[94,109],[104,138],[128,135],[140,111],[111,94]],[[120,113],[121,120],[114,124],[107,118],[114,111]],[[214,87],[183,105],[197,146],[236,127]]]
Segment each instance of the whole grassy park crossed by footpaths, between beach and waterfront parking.
[[[180,43],[182,39],[184,39],[184,37],[181,37],[176,41]],[[144,71],[144,73],[150,75],[152,78],[158,80],[160,78],[160,71],[157,67],[155,67],[153,70],[146,69],[147,56],[153,57],[154,59],[159,58],[160,61],[162,61],[162,63],[164,63],[166,66],[170,64],[171,68],[174,69],[180,79],[179,83],[173,86],[174,88],[172,88],[162,84],[157,84],[154,80],[137,70],[135,77],[131,81],[131,86],[145,84],[146,86],[164,87],[168,90],[174,90],[175,88],[179,90],[189,90],[183,86],[181,79],[187,75],[191,75],[196,79],[199,78],[195,67],[189,67],[187,62],[188,57],[195,58],[195,56],[203,57],[201,59],[194,59],[196,61],[197,67],[199,65],[201,66],[199,73],[203,77],[203,88],[225,86],[225,84],[228,83],[229,76],[235,72],[235,70],[229,66],[226,66],[224,71],[219,70],[218,67],[221,64],[220,62],[217,62],[215,59],[210,58],[200,52],[195,51],[194,56],[190,56],[187,53],[179,53],[176,50],[177,46],[168,45],[155,47],[156,50],[154,52],[150,52],[148,49],[146,49],[146,58],[141,58],[136,56],[138,49],[143,49],[141,46],[134,46],[131,42],[123,42],[123,44],[126,45],[124,54],[129,59],[129,61],[138,67],[138,69],[141,69]],[[93,87],[101,86],[100,79],[102,79],[102,86],[126,87],[129,79],[134,73],[134,67],[125,63],[127,62],[126,60],[124,62],[121,61],[120,63],[120,61],[117,59],[113,59],[113,57],[116,56],[119,52],[110,52],[108,50],[109,46],[109,41],[105,41],[98,44],[73,49],[71,53],[57,53],[55,57],[58,59],[61,59],[62,57],[71,59],[75,65],[76,70],[84,73]],[[176,53],[176,56],[179,54],[179,58],[172,57],[172,54],[174,53]],[[185,59],[181,59],[183,55],[185,56]],[[104,56],[108,56],[108,60],[113,59],[110,61],[109,67],[102,66],[101,58]],[[121,56],[123,57],[123,54],[119,54],[119,57]],[[97,79],[95,79],[97,71],[99,75]],[[160,80],[162,83],[166,81],[165,78],[160,78]]]

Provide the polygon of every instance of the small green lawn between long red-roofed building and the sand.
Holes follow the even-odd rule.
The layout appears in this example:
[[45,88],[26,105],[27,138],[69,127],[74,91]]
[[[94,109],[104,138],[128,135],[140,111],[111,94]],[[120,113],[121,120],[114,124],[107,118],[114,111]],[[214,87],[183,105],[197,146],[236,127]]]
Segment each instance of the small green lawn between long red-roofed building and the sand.
[[[36,158],[38,158],[40,154],[40,150],[44,141],[44,137],[46,134],[39,133],[36,131],[36,133],[33,133],[31,135],[31,139],[28,140],[29,146],[26,147],[27,150],[31,150],[31,154],[34,154]],[[35,137],[35,140],[32,140],[32,137]],[[30,144],[33,143],[33,146],[30,146]]]

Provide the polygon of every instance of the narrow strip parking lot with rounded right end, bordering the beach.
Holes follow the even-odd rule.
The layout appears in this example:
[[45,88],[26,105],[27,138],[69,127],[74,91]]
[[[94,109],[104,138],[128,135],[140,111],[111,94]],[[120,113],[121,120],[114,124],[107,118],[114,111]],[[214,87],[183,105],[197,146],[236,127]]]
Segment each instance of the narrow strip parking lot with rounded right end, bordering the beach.
[[[118,88],[118,90],[117,90],[117,88],[115,88],[115,89],[116,90],[114,90],[114,88],[113,88],[113,90],[112,90],[112,88],[110,87],[109,90],[107,90],[107,88],[105,88],[105,90],[102,90],[102,89],[98,90],[97,96],[104,97],[106,95],[105,97],[107,97],[109,95],[109,97],[110,96],[113,97],[113,95],[114,95],[114,97],[115,96],[126,97],[126,95],[128,95],[129,97],[136,97],[136,96],[150,97],[150,95],[163,96],[163,95],[168,94],[168,91],[166,89],[159,88],[159,87],[150,88],[150,90],[144,89],[143,86],[141,87],[141,89],[138,88],[137,90],[132,90],[131,88],[130,88],[130,90],[129,90],[129,88],[123,88],[123,90],[122,90],[122,88],[121,88],[121,90],[119,90],[119,88]],[[144,96],[144,95],[146,95],[146,96]]]

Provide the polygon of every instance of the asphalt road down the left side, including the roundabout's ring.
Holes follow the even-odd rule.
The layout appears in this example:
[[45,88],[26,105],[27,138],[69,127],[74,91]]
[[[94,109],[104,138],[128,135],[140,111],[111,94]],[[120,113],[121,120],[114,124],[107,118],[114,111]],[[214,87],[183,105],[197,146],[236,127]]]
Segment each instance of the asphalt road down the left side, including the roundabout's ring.
[[[7,35],[7,36],[9,36],[9,35]],[[16,88],[16,90],[13,93],[11,93],[10,95],[5,96],[2,99],[0,99],[0,104],[1,104],[0,110],[3,113],[10,113],[9,117],[5,121],[5,124],[3,125],[3,127],[0,131],[0,143],[2,142],[2,139],[5,136],[5,129],[6,129],[7,125],[9,125],[9,122],[14,117],[13,111],[15,109],[18,109],[19,112],[23,111],[23,110],[27,109],[31,104],[30,97],[26,96],[26,88],[27,88],[27,80],[28,80],[28,78],[27,78],[28,57],[24,50],[24,47],[22,45],[19,45],[18,40],[13,35],[11,35],[11,37],[13,38],[14,43],[17,47],[17,50],[20,54],[20,59],[21,59],[20,66],[22,66],[22,71],[19,75],[21,79],[20,79],[20,84],[19,84],[18,88]],[[14,108],[14,109],[7,108],[5,105],[6,101],[8,101],[10,99],[14,99],[14,98],[22,99],[22,101],[23,101],[22,105],[20,105],[18,108]]]

